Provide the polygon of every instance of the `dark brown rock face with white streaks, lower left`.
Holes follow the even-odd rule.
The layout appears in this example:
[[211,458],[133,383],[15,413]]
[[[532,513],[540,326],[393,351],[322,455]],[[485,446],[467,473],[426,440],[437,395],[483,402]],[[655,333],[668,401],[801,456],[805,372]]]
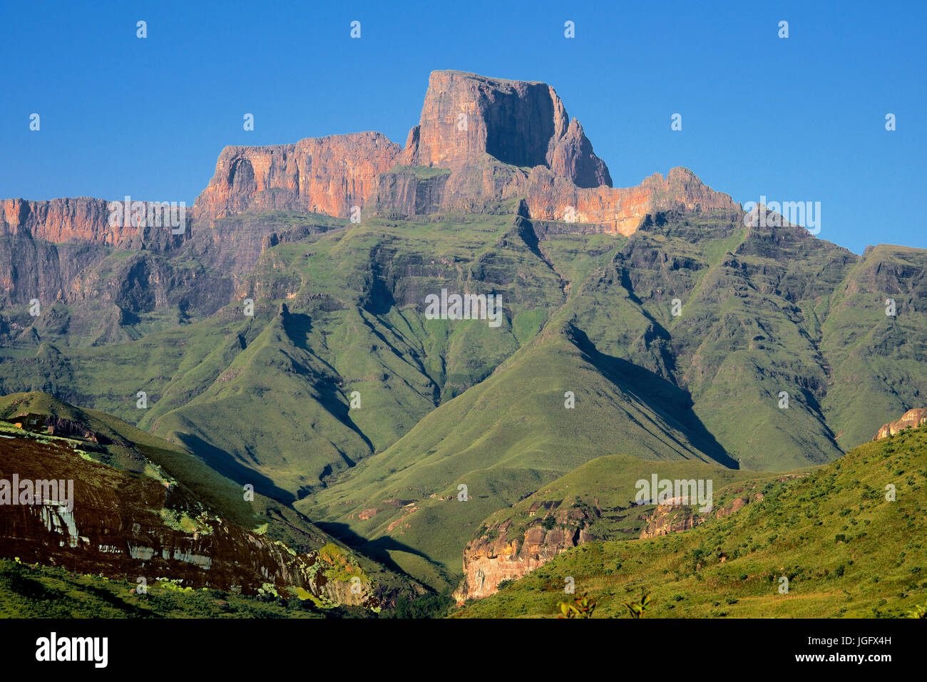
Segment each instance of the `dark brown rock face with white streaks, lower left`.
[[[160,478],[131,475],[92,461],[100,456],[95,444],[102,439],[68,420],[27,414],[10,421],[49,436],[63,430],[70,438],[93,437],[80,445],[3,438],[0,479],[11,481],[15,474],[19,481],[62,484],[53,488],[53,499],[0,506],[0,555],[130,581],[143,576],[152,587],[164,578],[182,587],[254,595],[270,585],[290,595],[301,588],[333,603],[378,606],[369,578],[337,546],[298,553],[211,514],[160,472]],[[358,594],[350,590],[354,575],[362,580]]]

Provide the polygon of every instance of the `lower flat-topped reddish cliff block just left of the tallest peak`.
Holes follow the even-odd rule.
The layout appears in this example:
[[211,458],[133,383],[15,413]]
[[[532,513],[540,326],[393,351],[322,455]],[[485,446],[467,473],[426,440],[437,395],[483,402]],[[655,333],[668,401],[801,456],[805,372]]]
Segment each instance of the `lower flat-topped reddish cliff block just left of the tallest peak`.
[[194,215],[220,218],[249,209],[286,209],[348,217],[363,208],[376,175],[391,168],[400,145],[380,133],[300,140],[295,145],[227,146]]

